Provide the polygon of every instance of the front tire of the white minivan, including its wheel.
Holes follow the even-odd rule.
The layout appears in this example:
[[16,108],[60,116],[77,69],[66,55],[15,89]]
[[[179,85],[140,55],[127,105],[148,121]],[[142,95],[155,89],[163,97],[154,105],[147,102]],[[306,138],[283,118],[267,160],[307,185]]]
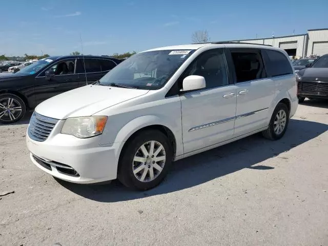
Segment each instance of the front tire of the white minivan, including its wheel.
[[[152,144],[153,153],[150,150]],[[145,149],[142,149],[142,146]],[[162,149],[156,153],[160,146]],[[162,160],[163,158],[165,159]],[[173,151],[166,135],[157,130],[141,131],[127,142],[121,153],[118,180],[131,189],[152,189],[165,178],[172,161]]]

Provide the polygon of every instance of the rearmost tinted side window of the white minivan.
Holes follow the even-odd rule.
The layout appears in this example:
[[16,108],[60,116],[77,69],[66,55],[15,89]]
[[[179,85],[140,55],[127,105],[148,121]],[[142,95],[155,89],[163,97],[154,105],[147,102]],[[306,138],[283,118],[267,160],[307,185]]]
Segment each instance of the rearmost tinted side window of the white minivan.
[[269,77],[293,74],[289,59],[280,51],[262,50]]

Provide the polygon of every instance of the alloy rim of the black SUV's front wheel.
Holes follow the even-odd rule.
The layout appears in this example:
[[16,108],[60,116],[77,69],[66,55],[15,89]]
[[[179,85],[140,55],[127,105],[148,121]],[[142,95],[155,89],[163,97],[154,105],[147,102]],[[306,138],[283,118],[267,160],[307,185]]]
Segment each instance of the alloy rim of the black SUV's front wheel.
[[22,105],[19,101],[11,97],[0,99],[0,119],[11,122],[22,114]]

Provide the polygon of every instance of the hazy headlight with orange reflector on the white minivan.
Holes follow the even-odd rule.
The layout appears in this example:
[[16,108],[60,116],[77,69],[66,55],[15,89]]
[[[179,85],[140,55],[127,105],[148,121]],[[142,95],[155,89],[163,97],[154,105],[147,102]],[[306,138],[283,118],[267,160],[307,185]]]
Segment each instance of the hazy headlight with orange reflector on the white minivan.
[[103,133],[107,116],[76,117],[65,120],[61,133],[88,138]]

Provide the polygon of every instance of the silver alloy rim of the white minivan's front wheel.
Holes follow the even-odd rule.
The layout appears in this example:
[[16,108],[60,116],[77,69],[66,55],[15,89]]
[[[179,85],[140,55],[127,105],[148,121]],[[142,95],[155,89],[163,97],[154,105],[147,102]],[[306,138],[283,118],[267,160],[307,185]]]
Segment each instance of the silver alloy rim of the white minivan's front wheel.
[[150,182],[162,172],[165,161],[165,149],[160,142],[145,142],[134,155],[133,174],[141,182]]

